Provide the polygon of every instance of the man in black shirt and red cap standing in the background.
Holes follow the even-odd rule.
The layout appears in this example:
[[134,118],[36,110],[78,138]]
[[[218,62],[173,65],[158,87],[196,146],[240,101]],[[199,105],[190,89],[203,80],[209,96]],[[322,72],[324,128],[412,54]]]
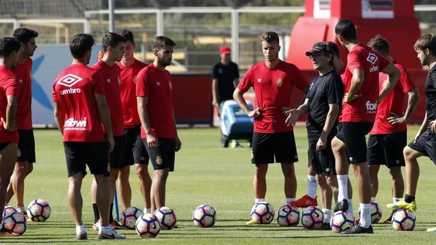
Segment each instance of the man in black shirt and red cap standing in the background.
[[230,48],[219,49],[220,61],[212,67],[212,105],[221,111],[221,103],[233,99],[235,86],[238,84],[238,65],[230,60]]

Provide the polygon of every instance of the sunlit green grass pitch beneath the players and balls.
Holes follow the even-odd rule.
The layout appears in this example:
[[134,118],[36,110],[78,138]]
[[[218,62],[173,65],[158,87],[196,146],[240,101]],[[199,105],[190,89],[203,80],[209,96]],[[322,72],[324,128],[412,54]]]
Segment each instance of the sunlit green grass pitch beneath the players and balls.
[[[417,130],[416,126],[409,127],[409,141]],[[418,223],[413,232],[397,232],[391,225],[376,224],[373,235],[343,236],[331,231],[308,231],[301,224],[294,228],[281,228],[275,219],[270,225],[245,225],[254,204],[251,148],[219,148],[217,128],[180,129],[179,135],[183,145],[176,153],[175,171],[169,175],[166,191],[166,204],[175,210],[179,229],[161,231],[154,239],[140,239],[135,231],[123,230],[120,233],[127,235],[126,241],[99,244],[436,244],[436,234],[426,232],[427,228],[436,226],[436,167],[427,157],[419,160]],[[304,126],[295,128],[295,137],[300,159],[295,164],[299,197],[306,192],[307,137]],[[25,203],[35,198],[47,200],[52,206],[52,215],[46,222],[29,222],[26,233],[20,237],[0,238],[0,244],[75,243],[74,223],[66,201],[67,173],[61,135],[55,130],[36,130],[35,138],[37,163],[26,179],[24,200]],[[151,166],[149,170],[152,170]],[[388,213],[384,206],[392,199],[390,177],[383,166],[379,177],[377,202],[382,205],[384,220]],[[355,187],[352,171],[350,178]],[[91,229],[91,180],[92,176],[87,175],[83,181],[83,220],[88,229],[89,240],[86,243],[97,243],[97,232]],[[267,180],[266,199],[277,210],[285,202],[279,164],[270,165]],[[133,166],[130,183],[132,205],[142,209],[139,182]],[[353,203],[356,214],[359,203],[356,192]],[[15,204],[14,198],[10,204]],[[200,204],[210,204],[217,210],[218,220],[213,228],[200,229],[192,222],[192,210]]]

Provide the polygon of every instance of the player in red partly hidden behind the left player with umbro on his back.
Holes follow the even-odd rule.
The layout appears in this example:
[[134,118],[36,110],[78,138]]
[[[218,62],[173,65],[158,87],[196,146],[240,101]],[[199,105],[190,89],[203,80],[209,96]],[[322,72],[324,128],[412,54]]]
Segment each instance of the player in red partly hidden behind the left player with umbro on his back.
[[[125,169],[129,169],[130,165],[126,164],[124,160],[125,149],[126,149],[126,141],[124,138],[124,130],[123,130],[123,111],[121,105],[121,97],[120,97],[120,69],[115,62],[120,61],[124,54],[124,45],[126,43],[126,39],[113,32],[109,32],[105,34],[102,41],[103,47],[103,58],[99,60],[97,63],[93,65],[96,71],[100,72],[103,76],[103,83],[105,85],[105,94],[106,97],[109,98],[107,100],[110,112],[110,122],[112,125],[113,132],[113,140],[115,142],[115,147],[113,151],[109,154],[109,167],[110,167],[110,209],[109,209],[109,223],[113,229],[123,229],[123,227],[118,224],[112,215],[113,210],[113,189],[115,187],[116,180],[118,179],[118,175]],[[120,196],[123,198],[123,191],[120,190]],[[91,185],[91,199],[92,199],[92,207],[94,210],[94,224],[92,228],[94,230],[98,230],[99,223],[99,209],[97,206],[97,183],[95,179]],[[121,198],[121,199],[122,199]],[[130,206],[130,205],[129,205]],[[128,207],[128,206],[127,206]]]

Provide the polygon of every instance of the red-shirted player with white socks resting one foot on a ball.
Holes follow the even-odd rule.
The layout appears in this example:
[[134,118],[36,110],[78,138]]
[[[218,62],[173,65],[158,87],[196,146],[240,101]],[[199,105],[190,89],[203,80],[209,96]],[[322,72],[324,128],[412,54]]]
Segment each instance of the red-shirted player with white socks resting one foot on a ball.
[[[348,210],[348,170],[353,164],[360,197],[360,223],[342,234],[373,233],[371,226],[371,178],[365,136],[373,127],[377,103],[396,85],[400,71],[373,49],[362,45],[356,27],[348,19],[335,26],[339,43],[349,51],[347,68],[342,76],[345,95],[339,116],[338,133],[331,141],[338,180],[338,202],[334,211]],[[379,71],[388,74],[379,93]],[[348,161],[347,161],[348,157]]]

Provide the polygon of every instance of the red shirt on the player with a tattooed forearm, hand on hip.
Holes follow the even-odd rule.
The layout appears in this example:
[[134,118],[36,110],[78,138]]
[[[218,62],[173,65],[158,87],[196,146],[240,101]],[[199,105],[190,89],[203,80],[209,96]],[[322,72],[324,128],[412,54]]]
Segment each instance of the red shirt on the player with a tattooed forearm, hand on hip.
[[[374,127],[371,130],[370,134],[392,134],[401,132],[407,129],[407,123],[395,124],[392,125],[387,121],[388,117],[392,117],[394,115],[390,114],[390,112],[395,113],[396,115],[403,115],[403,101],[404,97],[410,90],[416,88],[415,84],[410,78],[409,73],[406,68],[401,64],[397,63],[395,60],[392,61],[400,71],[401,76],[398,79],[398,83],[395,85],[393,90],[389,92],[389,94],[383,98],[382,102],[380,102],[377,107],[376,121],[374,122]],[[379,87],[383,87],[383,82],[387,79],[387,75],[384,73],[380,73],[379,75]]]

